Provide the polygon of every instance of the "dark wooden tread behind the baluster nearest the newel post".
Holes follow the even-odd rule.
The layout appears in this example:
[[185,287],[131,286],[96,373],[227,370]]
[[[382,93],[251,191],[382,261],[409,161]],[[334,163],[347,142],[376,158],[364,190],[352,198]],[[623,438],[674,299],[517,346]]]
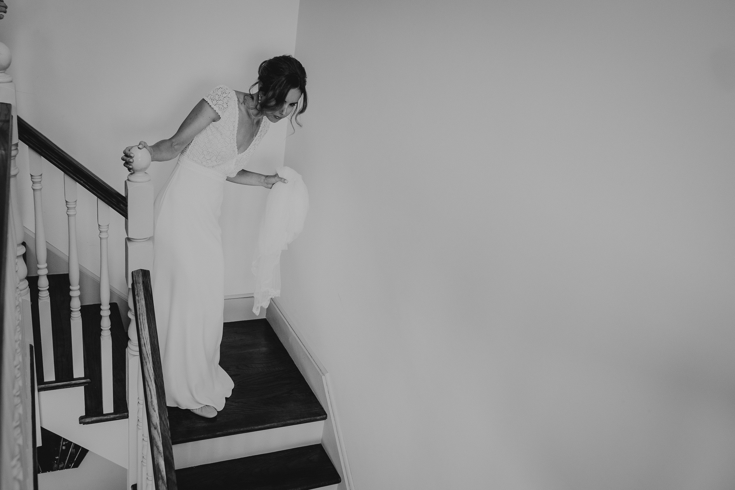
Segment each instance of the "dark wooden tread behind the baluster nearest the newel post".
[[84,339],[85,375],[90,383],[85,386],[85,414],[79,423],[88,424],[107,420],[126,419],[128,404],[125,385],[125,350],[128,334],[123,327],[118,303],[110,303],[110,335],[112,336],[112,412],[102,410],[102,364],[99,326],[100,305],[82,306],[82,336]]

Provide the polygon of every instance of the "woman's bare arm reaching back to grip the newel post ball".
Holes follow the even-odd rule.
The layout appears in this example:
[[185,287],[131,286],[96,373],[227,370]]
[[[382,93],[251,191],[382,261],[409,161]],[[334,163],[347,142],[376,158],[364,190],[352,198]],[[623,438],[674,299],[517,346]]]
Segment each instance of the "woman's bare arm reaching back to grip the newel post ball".
[[[189,112],[189,115],[184,119],[182,125],[179,126],[176,134],[168,138],[168,140],[160,140],[158,143],[151,146],[148,146],[145,141],[141,141],[137,146],[138,148],[148,148],[148,151],[151,152],[151,161],[168,162],[168,160],[176,158],[176,156],[182,152],[184,147],[188,145],[202,129],[206,128],[209,123],[212,123],[215,120],[220,120],[220,115],[218,115],[215,109],[212,109],[212,106],[210,106],[207,101],[201,99],[201,101],[198,101],[196,106],[191,109],[191,112]],[[125,162],[125,166],[128,167],[128,170],[132,170],[131,165],[133,162],[133,155],[130,153],[131,148],[132,146],[125,148],[122,156],[122,160]]]

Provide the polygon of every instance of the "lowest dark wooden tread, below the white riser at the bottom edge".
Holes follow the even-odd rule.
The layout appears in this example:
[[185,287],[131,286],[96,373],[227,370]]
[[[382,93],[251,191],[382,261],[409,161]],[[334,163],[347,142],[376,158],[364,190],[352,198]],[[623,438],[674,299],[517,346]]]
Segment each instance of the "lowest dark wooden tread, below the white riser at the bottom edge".
[[309,490],[341,481],[321,444],[176,470],[179,490]]

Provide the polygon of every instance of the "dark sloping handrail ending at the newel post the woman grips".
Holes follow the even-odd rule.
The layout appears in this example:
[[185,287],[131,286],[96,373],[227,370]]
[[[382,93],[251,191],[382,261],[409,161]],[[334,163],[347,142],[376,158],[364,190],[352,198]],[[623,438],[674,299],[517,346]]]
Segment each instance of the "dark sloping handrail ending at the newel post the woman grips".
[[73,159],[20,116],[18,116],[18,139],[127,219],[128,204],[124,195]]

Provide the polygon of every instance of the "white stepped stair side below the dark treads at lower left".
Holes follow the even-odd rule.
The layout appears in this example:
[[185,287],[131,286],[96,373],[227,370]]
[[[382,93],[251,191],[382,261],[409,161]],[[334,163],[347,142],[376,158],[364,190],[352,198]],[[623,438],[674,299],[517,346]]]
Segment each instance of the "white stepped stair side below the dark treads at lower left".
[[85,389],[51,389],[38,393],[41,427],[57,433],[74,444],[115,464],[128,467],[128,421],[126,419],[82,425],[85,414]]

